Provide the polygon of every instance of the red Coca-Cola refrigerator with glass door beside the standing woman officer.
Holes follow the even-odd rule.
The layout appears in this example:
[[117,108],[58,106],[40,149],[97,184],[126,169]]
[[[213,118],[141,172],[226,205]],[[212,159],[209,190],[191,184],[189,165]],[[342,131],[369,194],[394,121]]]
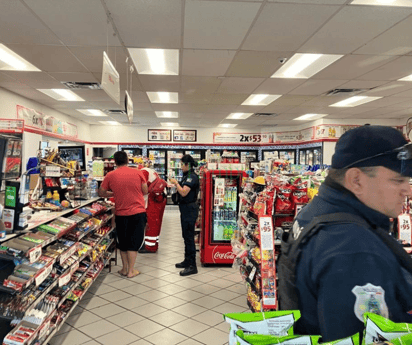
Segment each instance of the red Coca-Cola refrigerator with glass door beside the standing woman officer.
[[244,171],[209,170],[202,178],[200,262],[232,264],[231,238],[238,230],[239,194]]

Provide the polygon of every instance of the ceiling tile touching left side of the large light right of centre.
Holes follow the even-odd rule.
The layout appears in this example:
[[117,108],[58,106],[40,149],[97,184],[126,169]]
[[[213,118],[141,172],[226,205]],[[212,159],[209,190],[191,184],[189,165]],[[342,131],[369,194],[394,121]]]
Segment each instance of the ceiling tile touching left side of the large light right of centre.
[[279,59],[290,58],[291,52],[240,51],[226,75],[230,77],[269,78],[280,66]]

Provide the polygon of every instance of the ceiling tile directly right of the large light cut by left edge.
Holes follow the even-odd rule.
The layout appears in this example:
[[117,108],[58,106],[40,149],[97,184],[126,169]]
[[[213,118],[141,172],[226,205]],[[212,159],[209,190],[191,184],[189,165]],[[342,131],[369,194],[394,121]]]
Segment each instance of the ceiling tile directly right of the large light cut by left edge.
[[8,47],[44,72],[87,72],[63,46],[10,44]]

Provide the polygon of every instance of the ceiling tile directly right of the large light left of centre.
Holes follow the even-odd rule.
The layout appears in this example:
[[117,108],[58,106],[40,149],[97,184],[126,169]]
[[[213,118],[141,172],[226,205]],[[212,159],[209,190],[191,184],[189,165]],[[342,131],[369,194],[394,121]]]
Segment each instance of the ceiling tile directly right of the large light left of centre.
[[223,76],[235,56],[230,50],[183,50],[183,75]]

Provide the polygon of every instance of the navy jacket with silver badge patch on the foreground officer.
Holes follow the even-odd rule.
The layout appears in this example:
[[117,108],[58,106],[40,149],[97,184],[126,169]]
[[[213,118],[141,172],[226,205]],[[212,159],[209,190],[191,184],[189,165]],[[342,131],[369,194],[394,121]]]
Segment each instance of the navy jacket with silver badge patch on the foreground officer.
[[[389,231],[387,216],[329,179],[299,213],[294,230],[315,216],[337,212],[360,216],[371,228]],[[368,294],[368,284],[379,292],[374,297]],[[412,323],[407,314],[412,309],[412,275],[373,230],[359,224],[326,226],[311,238],[296,268],[296,286],[302,317],[295,334],[322,335],[322,341],[349,337],[364,329],[358,317],[365,311]],[[362,296],[360,291],[366,294]]]

